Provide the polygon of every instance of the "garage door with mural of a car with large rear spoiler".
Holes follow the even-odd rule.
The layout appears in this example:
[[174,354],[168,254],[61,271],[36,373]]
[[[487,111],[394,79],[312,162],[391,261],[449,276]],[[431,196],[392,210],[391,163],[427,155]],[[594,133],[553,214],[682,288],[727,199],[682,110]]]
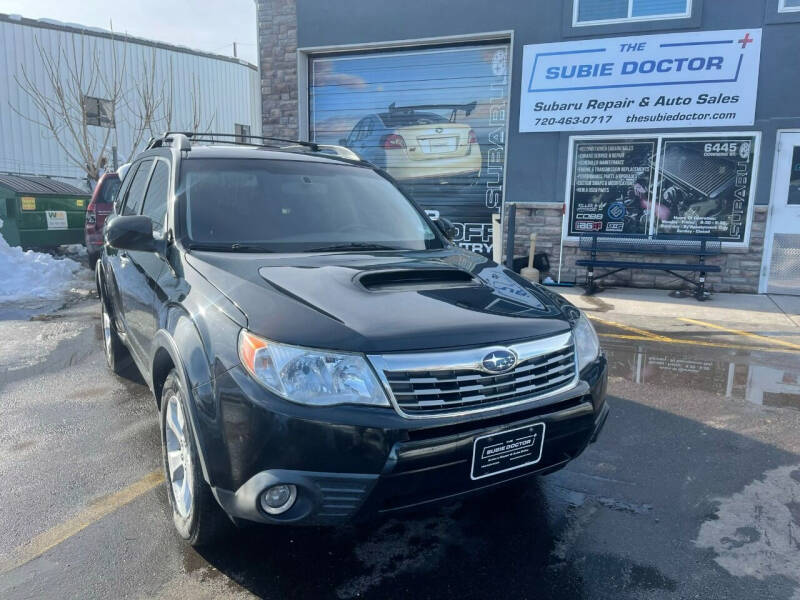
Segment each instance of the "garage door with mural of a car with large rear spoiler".
[[457,241],[491,253],[503,199],[508,44],[311,58],[309,134],[386,169]]

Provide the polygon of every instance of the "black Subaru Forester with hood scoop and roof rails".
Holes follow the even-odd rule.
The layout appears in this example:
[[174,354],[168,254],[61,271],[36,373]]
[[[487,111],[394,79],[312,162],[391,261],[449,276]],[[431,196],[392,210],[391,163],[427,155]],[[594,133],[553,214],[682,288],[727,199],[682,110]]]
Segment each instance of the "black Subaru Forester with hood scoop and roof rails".
[[218,139],[151,141],[97,265],[108,364],[155,395],[182,537],[455,498],[595,440],[606,361],[569,302],[345,149]]

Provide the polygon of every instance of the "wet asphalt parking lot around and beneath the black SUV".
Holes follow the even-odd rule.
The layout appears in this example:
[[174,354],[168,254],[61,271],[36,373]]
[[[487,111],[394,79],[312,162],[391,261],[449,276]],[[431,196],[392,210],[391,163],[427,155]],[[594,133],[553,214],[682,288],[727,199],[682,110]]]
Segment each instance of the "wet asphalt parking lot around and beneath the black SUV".
[[200,553],[173,533],[148,389],[106,369],[97,300],[0,321],[0,597],[800,599],[800,322],[626,302],[584,300],[613,412],[566,469]]

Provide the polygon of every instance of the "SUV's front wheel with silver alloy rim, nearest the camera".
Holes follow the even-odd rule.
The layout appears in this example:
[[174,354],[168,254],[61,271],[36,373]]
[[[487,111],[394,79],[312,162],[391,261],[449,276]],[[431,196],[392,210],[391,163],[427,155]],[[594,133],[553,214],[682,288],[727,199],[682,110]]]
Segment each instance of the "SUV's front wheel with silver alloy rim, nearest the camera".
[[203,478],[188,398],[173,369],[161,393],[161,448],[167,495],[178,534],[192,546],[206,546],[229,529],[225,514]]

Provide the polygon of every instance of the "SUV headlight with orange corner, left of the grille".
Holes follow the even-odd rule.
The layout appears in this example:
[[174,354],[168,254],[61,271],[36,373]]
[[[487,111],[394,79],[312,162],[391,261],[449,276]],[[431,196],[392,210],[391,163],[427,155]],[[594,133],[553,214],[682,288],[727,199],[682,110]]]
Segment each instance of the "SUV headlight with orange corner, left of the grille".
[[378,378],[360,354],[287,346],[243,329],[239,358],[256,381],[292,402],[389,406]]

